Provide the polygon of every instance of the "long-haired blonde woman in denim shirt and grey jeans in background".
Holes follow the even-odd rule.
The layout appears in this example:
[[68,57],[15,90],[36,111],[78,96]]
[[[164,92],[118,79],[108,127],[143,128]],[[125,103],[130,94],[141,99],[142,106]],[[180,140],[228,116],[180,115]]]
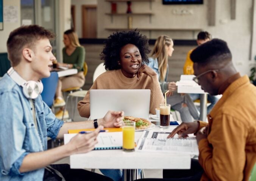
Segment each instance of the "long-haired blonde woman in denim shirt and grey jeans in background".
[[[162,93],[167,93],[167,103],[171,104],[172,109],[180,112],[182,122],[192,122],[199,119],[199,113],[193,101],[187,94],[178,94],[176,92],[175,82],[167,82],[169,73],[168,57],[172,56],[173,41],[170,37],[162,35],[157,38],[148,66],[151,67],[159,78]],[[192,115],[192,117],[191,117]]]

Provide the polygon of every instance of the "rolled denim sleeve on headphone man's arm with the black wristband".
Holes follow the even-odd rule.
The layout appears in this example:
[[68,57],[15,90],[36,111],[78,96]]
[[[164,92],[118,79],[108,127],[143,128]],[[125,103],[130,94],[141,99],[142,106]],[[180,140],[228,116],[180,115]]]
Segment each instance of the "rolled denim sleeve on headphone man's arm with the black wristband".
[[[42,99],[40,99],[42,101]],[[44,104],[44,114],[45,114],[45,121],[47,127],[47,137],[52,138],[53,140],[56,139],[59,130],[61,129],[62,125],[64,124],[63,121],[58,120],[55,115],[53,114],[52,110],[42,101]]]

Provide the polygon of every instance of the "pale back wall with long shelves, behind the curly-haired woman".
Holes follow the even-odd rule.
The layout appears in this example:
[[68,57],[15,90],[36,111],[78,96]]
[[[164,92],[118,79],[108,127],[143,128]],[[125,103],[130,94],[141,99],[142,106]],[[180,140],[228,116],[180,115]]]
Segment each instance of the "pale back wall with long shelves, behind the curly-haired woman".
[[[162,0],[152,2],[132,2],[133,12],[153,12],[151,23],[148,15],[133,16],[133,28],[170,28],[170,29],[202,29],[209,31],[214,38],[227,41],[233,54],[233,61],[237,70],[242,74],[249,74],[250,38],[251,31],[256,33],[256,25],[253,25],[252,5],[255,0],[236,0],[236,19],[231,20],[230,0],[216,0],[215,26],[208,26],[208,0],[203,5],[162,5]],[[111,3],[98,0],[97,37],[106,38],[113,31],[105,28],[127,28],[126,16],[105,15],[111,11]],[[117,12],[125,12],[125,2],[117,3]],[[175,14],[186,10],[188,15]],[[255,13],[255,9],[254,9]],[[256,15],[254,15],[256,17]],[[254,20],[255,21],[255,20]],[[252,29],[252,30],[251,30]],[[157,38],[161,34],[167,34],[173,39],[196,39],[198,31],[141,31],[150,38]],[[253,37],[252,47],[256,47],[256,34]],[[252,57],[256,55],[256,49],[252,49]]]

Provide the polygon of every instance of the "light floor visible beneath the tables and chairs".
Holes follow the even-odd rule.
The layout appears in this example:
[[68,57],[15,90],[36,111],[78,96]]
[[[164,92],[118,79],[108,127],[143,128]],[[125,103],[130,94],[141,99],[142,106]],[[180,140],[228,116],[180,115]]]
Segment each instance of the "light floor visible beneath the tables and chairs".
[[[82,98],[79,98],[78,101],[82,100]],[[71,114],[71,108],[72,106],[76,107],[75,104],[75,99],[73,100],[73,105],[71,104],[71,101],[69,101],[68,105],[67,105],[67,110],[69,111],[69,114]],[[58,109],[55,109],[55,112],[57,112]],[[82,118],[80,117],[78,110],[75,111],[75,117],[74,117],[74,121],[86,121],[87,118]],[[69,164],[69,157],[64,158],[62,160],[57,161],[55,164],[62,164],[62,163],[68,163]],[[91,170],[91,169],[87,169],[87,170]],[[96,173],[100,173],[100,170],[96,169],[95,170]],[[145,173],[145,178],[162,178],[162,170],[144,170]]]

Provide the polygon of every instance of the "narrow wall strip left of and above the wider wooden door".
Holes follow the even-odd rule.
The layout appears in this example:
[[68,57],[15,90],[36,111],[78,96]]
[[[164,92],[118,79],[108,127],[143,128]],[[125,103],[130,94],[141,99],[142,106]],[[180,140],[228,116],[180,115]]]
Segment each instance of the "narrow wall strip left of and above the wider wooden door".
[[75,29],[78,37],[82,37],[82,6],[97,5],[97,0],[71,0],[71,4],[75,6],[76,25]]

